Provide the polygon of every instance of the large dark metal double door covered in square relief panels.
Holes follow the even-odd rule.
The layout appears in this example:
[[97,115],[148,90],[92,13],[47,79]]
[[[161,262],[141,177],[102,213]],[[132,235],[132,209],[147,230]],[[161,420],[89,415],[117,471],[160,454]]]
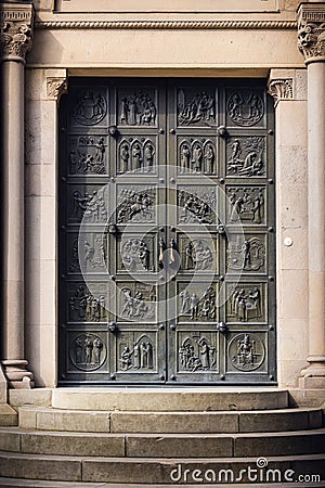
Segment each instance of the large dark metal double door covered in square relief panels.
[[60,121],[60,384],[274,384],[264,84],[72,79]]

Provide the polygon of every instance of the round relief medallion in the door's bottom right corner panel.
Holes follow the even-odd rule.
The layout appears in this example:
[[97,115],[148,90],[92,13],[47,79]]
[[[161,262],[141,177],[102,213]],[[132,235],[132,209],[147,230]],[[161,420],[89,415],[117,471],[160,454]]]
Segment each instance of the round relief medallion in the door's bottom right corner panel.
[[237,370],[253,371],[264,361],[265,348],[256,335],[238,334],[230,342],[227,356]]

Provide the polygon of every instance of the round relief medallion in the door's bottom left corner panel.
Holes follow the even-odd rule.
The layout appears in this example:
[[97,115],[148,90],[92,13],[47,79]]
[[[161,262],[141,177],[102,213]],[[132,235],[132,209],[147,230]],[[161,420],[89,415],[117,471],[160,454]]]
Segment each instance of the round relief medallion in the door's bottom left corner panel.
[[96,334],[79,334],[69,347],[70,360],[81,371],[98,370],[103,365],[106,355],[106,345]]

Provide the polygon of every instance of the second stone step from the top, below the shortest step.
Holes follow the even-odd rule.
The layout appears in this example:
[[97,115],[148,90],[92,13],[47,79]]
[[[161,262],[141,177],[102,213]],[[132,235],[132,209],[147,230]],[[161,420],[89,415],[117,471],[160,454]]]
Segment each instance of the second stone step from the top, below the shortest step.
[[105,412],[21,407],[20,426],[103,433],[249,433],[322,427],[322,409],[225,412]]

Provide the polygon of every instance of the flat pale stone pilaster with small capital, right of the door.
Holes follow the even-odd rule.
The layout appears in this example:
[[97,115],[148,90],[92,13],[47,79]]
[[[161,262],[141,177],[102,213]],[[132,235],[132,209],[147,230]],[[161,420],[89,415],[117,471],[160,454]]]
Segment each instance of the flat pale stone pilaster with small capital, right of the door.
[[308,349],[307,69],[274,68],[277,372],[297,386]]

